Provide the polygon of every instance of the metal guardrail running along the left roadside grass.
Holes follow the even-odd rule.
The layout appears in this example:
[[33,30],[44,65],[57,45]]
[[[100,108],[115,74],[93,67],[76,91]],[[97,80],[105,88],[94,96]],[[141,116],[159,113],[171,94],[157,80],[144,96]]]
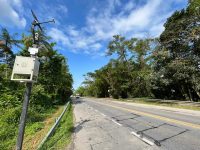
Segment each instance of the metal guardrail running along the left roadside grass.
[[53,131],[55,130],[55,128],[58,126],[60,120],[62,119],[63,115],[65,114],[68,106],[69,106],[69,102],[67,102],[66,106],[64,107],[64,110],[62,112],[62,114],[56,119],[55,124],[51,127],[51,129],[49,130],[49,132],[47,133],[47,135],[44,137],[44,139],[42,140],[42,142],[39,144],[37,149],[40,149],[42,147],[42,145],[44,144],[44,142],[46,142],[46,140],[51,136],[51,134],[53,133]]

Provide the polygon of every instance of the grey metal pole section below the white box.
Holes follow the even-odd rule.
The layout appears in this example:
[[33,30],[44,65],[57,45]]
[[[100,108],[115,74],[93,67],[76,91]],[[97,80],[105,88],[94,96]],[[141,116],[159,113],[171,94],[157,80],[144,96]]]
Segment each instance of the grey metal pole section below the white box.
[[23,144],[23,139],[24,139],[24,130],[25,130],[25,125],[26,125],[26,117],[27,117],[27,111],[28,111],[28,104],[29,104],[31,89],[32,89],[32,83],[27,82],[26,83],[26,90],[25,90],[25,93],[24,93],[24,102],[23,102],[23,107],[22,107],[22,114],[21,114],[21,117],[20,117],[19,133],[18,133],[18,138],[17,138],[16,150],[22,150],[22,144]]

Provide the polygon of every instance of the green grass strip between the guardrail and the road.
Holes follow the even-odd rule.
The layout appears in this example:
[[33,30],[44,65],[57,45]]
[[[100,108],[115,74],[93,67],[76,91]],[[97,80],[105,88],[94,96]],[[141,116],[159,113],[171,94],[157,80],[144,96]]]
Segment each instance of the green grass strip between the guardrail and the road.
[[68,110],[62,117],[51,137],[42,145],[39,150],[66,149],[71,142],[73,133],[73,107],[70,104]]

